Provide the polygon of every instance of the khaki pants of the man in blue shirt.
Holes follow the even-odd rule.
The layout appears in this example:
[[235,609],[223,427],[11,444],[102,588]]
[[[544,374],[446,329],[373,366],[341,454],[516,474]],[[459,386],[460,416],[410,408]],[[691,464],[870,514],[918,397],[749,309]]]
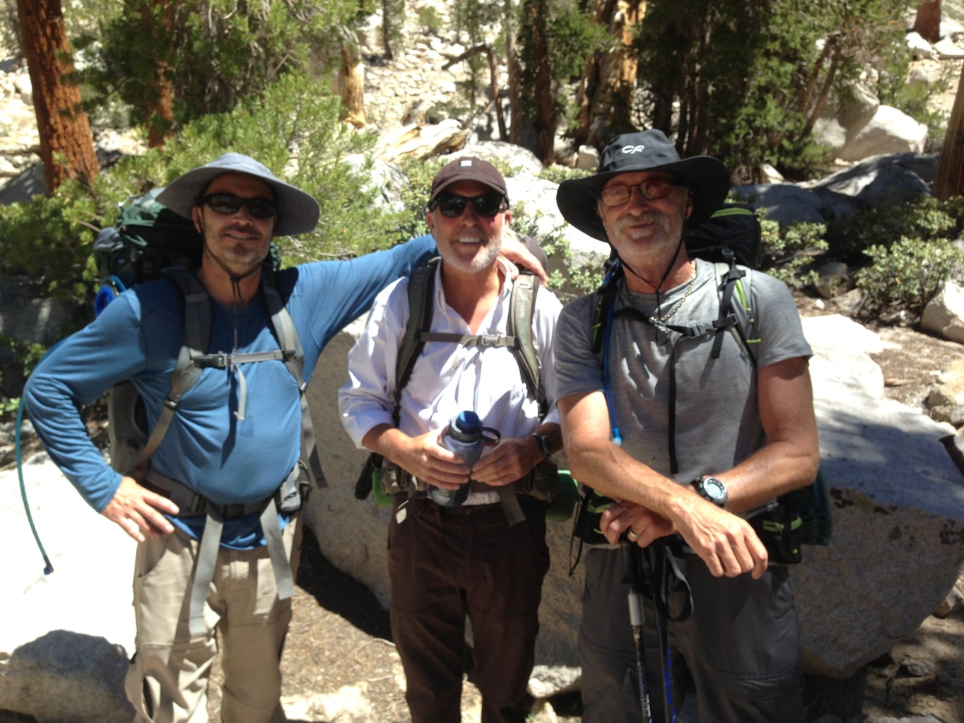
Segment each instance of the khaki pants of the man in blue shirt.
[[[300,515],[282,532],[291,569],[301,550]],[[134,571],[137,653],[125,689],[135,723],[206,723],[207,682],[224,645],[221,720],[269,723],[281,711],[281,650],[291,601],[278,600],[267,548],[221,548],[204,604],[206,631],[188,632],[198,542],[179,530],[138,545]]]

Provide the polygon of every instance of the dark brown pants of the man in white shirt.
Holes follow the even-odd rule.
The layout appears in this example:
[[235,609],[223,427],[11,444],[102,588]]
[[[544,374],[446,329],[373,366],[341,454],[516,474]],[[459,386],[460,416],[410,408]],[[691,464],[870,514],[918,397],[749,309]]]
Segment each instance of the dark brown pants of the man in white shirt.
[[395,503],[388,526],[391,633],[413,723],[461,720],[466,617],[482,723],[525,720],[549,548],[545,503],[526,496],[520,502],[525,522],[513,527],[497,503]]

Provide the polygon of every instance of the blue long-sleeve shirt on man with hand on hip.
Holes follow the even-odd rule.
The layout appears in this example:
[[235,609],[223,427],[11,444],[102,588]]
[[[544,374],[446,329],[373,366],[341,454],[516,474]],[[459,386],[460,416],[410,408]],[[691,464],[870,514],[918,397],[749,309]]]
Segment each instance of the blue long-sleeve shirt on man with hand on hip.
[[[390,281],[409,274],[434,252],[435,241],[422,236],[385,252],[304,264],[276,274],[305,351],[306,382],[325,344],[369,308]],[[209,351],[231,351],[235,332],[238,353],[278,349],[260,294],[240,310],[212,300],[211,314]],[[139,285],[65,339],[27,383],[24,396],[41,442],[97,512],[116,494],[121,475],[104,464],[77,406],[130,380],[144,398],[152,427],[171,388],[182,327],[183,311],[172,283]],[[151,459],[161,474],[222,504],[271,495],[301,453],[299,392],[283,362],[246,363],[242,372],[247,382],[243,421],[232,414],[238,404],[237,374],[206,368],[184,395]],[[202,518],[188,521],[187,527],[197,533],[202,523]],[[222,542],[244,548],[259,538],[254,515],[229,521]]]

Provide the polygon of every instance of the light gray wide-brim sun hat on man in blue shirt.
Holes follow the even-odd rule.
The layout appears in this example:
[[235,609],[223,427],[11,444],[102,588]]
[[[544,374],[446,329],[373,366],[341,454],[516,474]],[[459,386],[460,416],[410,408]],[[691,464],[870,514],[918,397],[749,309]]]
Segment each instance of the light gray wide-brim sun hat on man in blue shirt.
[[308,233],[318,225],[318,201],[300,188],[285,183],[272,174],[267,166],[243,153],[225,153],[206,166],[177,176],[157,197],[157,201],[174,213],[191,218],[191,209],[198,205],[201,193],[208,184],[219,175],[230,173],[254,175],[271,186],[278,206],[276,236]]

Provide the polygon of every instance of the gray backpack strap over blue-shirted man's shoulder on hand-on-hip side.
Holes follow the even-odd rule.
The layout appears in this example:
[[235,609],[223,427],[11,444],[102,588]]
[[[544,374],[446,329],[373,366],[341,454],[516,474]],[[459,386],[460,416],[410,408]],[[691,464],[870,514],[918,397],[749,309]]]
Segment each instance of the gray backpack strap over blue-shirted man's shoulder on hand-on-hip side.
[[164,278],[177,290],[181,308],[184,310],[184,330],[171,376],[171,389],[164,400],[157,423],[138,455],[135,469],[147,465],[168,433],[181,398],[198,383],[201,367],[195,363],[195,359],[207,352],[211,341],[211,299],[201,281],[185,266],[165,269]]

